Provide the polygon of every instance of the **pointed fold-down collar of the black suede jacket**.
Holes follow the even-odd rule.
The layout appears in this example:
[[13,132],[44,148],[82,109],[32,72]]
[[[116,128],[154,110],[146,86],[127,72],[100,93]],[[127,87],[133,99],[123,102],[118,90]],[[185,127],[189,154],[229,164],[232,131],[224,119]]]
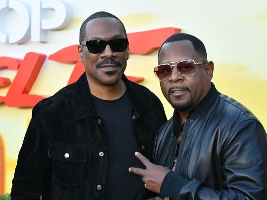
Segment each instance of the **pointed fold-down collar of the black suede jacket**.
[[[146,106],[144,105],[140,94],[134,90],[125,75],[122,76],[122,80],[126,83],[127,89],[129,90],[134,111],[146,114]],[[86,73],[74,83],[74,99],[76,120],[95,115],[92,94],[90,93]]]

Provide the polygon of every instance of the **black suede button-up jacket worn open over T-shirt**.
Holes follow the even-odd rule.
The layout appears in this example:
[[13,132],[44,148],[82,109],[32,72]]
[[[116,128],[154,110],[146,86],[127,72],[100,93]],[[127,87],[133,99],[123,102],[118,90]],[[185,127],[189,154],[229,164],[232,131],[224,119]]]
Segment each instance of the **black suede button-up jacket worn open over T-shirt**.
[[[163,106],[146,87],[126,76],[123,80],[132,100],[139,151],[151,160],[156,131],[167,121]],[[12,200],[39,200],[41,195],[42,200],[104,200],[107,145],[104,121],[95,115],[83,74],[34,107],[12,181]]]

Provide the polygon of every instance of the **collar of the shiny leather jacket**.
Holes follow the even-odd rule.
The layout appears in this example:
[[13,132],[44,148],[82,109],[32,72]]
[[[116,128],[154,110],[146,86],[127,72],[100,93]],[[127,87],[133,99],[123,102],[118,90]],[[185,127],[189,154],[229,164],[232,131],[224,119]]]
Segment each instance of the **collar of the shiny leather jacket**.
[[[211,89],[207,94],[207,96],[192,111],[190,111],[189,115],[187,116],[187,119],[196,118],[200,116],[202,113],[204,113],[214,104],[215,100],[218,98],[220,94],[221,93],[215,88],[215,85],[212,82]],[[178,115],[178,111],[176,109],[174,111],[174,116],[175,115]]]

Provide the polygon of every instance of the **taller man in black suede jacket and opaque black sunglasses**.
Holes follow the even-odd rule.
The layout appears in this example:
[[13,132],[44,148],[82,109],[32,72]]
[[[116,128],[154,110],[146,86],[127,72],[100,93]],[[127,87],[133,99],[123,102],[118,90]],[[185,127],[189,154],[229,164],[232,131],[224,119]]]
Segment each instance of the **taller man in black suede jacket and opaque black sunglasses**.
[[140,151],[152,159],[167,119],[159,99],[127,80],[125,27],[107,12],[80,29],[80,79],[33,109],[13,179],[12,200],[141,200],[148,191],[130,174]]

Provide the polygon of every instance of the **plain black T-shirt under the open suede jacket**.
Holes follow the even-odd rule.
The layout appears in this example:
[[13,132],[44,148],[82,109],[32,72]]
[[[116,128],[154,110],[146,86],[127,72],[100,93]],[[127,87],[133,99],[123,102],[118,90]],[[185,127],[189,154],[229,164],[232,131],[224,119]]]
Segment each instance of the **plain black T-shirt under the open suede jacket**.
[[134,156],[139,151],[134,137],[132,106],[128,91],[114,101],[93,97],[95,112],[104,120],[108,135],[108,166],[105,199],[141,200],[144,184],[141,176],[128,171],[144,166]]

